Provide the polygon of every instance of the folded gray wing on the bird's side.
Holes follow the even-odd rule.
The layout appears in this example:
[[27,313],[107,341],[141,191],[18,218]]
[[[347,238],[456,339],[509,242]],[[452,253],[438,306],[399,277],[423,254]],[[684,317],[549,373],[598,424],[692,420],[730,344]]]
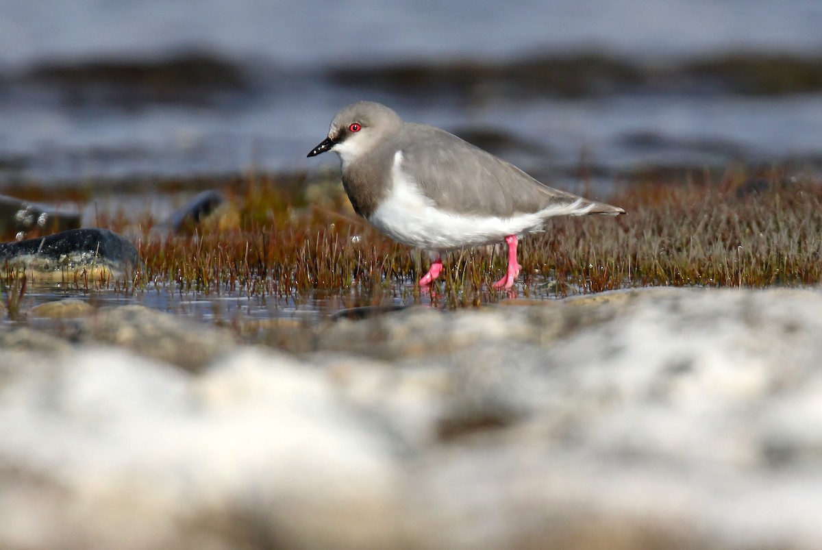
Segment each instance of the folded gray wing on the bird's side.
[[[508,217],[580,201],[579,196],[547,187],[513,164],[436,127],[406,124],[399,149],[402,168],[423,194],[457,214]],[[591,204],[583,199],[580,207]],[[593,213],[590,210],[580,214]]]

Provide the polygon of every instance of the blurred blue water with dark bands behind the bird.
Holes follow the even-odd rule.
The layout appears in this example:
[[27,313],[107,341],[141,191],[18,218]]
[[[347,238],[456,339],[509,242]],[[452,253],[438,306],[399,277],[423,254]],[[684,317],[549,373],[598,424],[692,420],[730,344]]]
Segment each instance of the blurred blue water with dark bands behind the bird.
[[349,102],[549,183],[822,165],[822,2],[0,7],[0,189],[302,173]]

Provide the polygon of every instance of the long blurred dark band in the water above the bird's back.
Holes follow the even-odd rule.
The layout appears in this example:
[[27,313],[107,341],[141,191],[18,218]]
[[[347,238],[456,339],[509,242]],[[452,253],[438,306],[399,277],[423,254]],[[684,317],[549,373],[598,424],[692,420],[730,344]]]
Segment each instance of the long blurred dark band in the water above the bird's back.
[[632,93],[785,95],[822,90],[822,58],[790,54],[710,54],[659,66],[599,51],[496,62],[446,60],[335,67],[337,86],[411,98],[482,102],[489,98],[577,99]]

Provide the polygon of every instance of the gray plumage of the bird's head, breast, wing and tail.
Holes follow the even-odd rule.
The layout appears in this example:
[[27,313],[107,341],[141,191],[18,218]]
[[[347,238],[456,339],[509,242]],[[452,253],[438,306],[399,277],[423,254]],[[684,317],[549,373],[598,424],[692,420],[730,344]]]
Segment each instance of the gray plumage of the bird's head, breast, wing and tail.
[[540,210],[561,211],[561,207],[572,205],[574,210],[566,214],[625,213],[617,206],[547,187],[513,164],[440,128],[402,122],[385,105],[363,101],[342,109],[331,122],[329,139],[335,143],[348,139],[352,122],[362,127],[358,138],[372,132],[362,155],[348,163],[343,158],[345,190],[354,209],[365,218],[389,192],[386,182],[390,182],[398,150],[402,151],[404,172],[423,195],[452,214],[508,218]]

